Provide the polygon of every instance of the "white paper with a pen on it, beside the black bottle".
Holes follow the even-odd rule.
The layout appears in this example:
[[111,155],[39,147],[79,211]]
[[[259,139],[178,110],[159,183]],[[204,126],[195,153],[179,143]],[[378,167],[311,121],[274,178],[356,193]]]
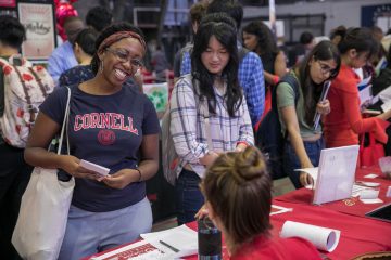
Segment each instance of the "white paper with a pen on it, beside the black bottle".
[[195,255],[198,252],[198,234],[186,225],[140,235],[143,239],[169,253],[172,258]]

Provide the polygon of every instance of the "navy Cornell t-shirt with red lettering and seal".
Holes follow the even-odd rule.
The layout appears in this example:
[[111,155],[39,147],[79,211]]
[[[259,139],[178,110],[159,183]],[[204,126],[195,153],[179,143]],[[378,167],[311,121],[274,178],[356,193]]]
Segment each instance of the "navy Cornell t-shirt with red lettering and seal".
[[[111,95],[93,95],[71,86],[68,139],[71,155],[110,169],[110,174],[136,168],[142,136],[156,134],[160,125],[151,101],[134,88]],[[40,110],[62,126],[67,89],[56,88]],[[146,196],[144,182],[122,190],[76,178],[72,205],[92,212],[128,207]]]

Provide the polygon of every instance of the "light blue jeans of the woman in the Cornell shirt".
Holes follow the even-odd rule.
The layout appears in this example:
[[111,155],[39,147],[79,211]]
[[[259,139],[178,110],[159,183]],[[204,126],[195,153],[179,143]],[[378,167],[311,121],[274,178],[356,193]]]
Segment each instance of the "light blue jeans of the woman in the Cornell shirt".
[[71,206],[59,260],[81,259],[130,243],[151,232],[152,210],[147,197],[127,208],[89,212]]

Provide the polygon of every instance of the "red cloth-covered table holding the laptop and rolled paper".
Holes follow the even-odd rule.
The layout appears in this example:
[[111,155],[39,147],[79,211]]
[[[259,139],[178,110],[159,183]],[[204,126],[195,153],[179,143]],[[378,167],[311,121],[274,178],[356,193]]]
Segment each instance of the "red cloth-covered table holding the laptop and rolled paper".
[[[384,203],[390,203],[391,198],[386,197],[386,187],[391,185],[391,181],[380,177],[371,180],[364,179],[364,176],[368,173],[380,176],[380,170],[379,168],[358,169],[356,179],[379,182],[381,184],[379,197]],[[273,237],[278,237],[283,223],[291,220],[341,231],[340,242],[336,250],[332,252],[320,251],[329,259],[352,259],[366,252],[391,251],[391,223],[364,216],[365,212],[381,206],[380,204],[366,205],[358,199],[350,199],[314,206],[311,205],[312,194],[313,191],[301,188],[273,199],[274,205],[292,209],[290,212],[270,217],[274,226],[272,230]],[[188,226],[197,230],[195,222],[189,223]],[[85,260],[87,259],[90,257]],[[186,259],[195,260],[198,257],[190,256]],[[225,246],[223,246],[223,259],[228,259]]]

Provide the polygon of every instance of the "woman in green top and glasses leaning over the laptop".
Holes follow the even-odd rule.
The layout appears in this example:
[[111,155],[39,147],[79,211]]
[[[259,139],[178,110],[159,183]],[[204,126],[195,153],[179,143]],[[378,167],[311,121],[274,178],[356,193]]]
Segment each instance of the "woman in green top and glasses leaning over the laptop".
[[319,98],[324,82],[338,75],[340,64],[337,47],[330,41],[321,41],[291,72],[299,81],[297,104],[292,86],[283,82],[277,88],[281,130],[288,132],[283,170],[297,188],[313,183],[310,174],[299,173],[294,169],[316,167],[319,162],[320,151],[325,145],[321,126],[314,127],[314,116],[316,112],[320,115],[330,112],[329,101],[319,101]]

